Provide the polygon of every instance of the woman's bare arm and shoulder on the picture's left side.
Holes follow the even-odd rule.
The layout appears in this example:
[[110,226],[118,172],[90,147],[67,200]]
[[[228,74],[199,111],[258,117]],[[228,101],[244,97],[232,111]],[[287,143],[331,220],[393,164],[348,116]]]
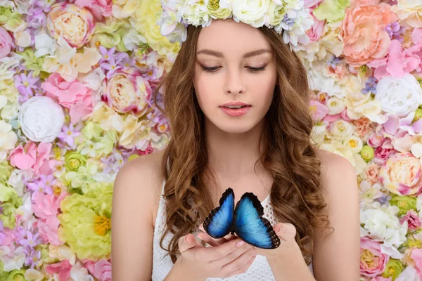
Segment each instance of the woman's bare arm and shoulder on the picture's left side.
[[122,166],[115,178],[111,222],[113,280],[151,278],[153,223],[164,177],[162,155],[155,152],[133,159]]

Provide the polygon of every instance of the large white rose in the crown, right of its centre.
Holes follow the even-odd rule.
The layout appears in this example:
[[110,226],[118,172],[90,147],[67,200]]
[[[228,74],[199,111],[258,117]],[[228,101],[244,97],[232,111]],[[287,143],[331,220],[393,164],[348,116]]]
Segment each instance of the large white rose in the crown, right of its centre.
[[234,0],[232,4],[233,18],[236,22],[240,20],[252,27],[262,27],[268,6],[269,0]]

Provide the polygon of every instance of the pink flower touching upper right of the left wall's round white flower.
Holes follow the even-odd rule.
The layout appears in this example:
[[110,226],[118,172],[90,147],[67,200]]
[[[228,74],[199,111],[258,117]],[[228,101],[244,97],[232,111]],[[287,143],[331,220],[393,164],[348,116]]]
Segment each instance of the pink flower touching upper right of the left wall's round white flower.
[[60,105],[70,109],[72,124],[76,124],[93,110],[91,90],[77,80],[68,82],[54,72],[41,84],[41,88],[46,91],[46,96],[56,99]]

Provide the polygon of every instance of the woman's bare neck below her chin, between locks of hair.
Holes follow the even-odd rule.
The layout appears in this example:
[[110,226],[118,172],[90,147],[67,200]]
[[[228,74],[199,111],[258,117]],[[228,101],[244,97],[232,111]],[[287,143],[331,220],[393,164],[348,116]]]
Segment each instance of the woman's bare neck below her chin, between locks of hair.
[[222,178],[234,180],[255,173],[255,162],[264,150],[263,129],[264,120],[245,133],[226,133],[206,120],[205,145],[210,168]]

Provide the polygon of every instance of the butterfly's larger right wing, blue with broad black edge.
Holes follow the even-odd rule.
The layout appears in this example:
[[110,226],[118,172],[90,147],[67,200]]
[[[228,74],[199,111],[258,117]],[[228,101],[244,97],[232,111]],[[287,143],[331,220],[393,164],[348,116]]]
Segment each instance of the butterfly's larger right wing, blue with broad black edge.
[[262,249],[274,249],[280,246],[280,238],[267,218],[262,217],[264,208],[253,193],[243,194],[236,204],[234,214],[235,232],[242,240]]

